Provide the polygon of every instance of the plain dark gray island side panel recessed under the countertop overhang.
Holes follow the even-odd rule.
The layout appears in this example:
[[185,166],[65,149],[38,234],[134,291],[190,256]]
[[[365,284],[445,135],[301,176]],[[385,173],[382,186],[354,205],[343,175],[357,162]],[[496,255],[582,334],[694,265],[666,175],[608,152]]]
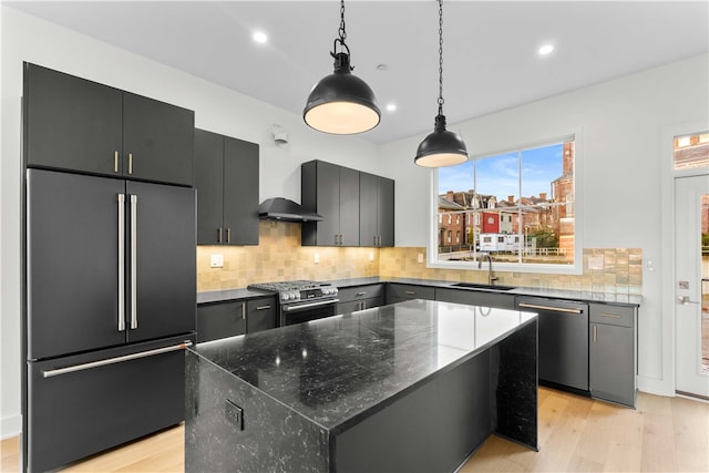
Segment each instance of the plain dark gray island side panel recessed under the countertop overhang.
[[454,471],[493,431],[485,350],[332,439],[337,473]]

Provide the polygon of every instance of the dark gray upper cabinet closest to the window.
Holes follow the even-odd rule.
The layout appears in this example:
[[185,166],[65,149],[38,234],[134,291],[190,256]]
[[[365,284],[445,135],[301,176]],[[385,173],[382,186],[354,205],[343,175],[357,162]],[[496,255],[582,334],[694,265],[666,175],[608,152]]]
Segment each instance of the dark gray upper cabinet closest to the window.
[[394,246],[394,182],[359,175],[360,246]]

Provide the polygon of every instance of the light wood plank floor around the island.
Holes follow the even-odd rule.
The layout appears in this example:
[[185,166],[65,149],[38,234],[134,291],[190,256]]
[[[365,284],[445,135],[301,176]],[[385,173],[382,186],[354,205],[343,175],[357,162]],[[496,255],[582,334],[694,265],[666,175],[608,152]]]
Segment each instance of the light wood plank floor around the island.
[[[709,472],[709,403],[639,393],[637,410],[540,388],[540,452],[492,435],[470,472]],[[18,471],[18,439],[2,441]],[[182,472],[182,425],[74,463],[65,472]]]

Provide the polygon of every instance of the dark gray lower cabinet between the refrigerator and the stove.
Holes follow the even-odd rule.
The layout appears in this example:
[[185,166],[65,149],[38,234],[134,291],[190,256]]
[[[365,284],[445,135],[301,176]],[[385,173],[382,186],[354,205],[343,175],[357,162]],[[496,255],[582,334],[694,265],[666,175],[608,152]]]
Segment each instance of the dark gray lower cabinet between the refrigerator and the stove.
[[197,307],[197,341],[276,328],[276,313],[274,297],[199,305]]

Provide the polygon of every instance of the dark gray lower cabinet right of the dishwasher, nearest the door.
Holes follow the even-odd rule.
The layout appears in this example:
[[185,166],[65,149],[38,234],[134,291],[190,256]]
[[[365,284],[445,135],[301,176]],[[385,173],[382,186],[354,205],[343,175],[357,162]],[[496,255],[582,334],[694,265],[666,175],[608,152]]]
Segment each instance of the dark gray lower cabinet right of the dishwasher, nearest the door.
[[590,395],[625,405],[636,401],[634,307],[590,305]]

